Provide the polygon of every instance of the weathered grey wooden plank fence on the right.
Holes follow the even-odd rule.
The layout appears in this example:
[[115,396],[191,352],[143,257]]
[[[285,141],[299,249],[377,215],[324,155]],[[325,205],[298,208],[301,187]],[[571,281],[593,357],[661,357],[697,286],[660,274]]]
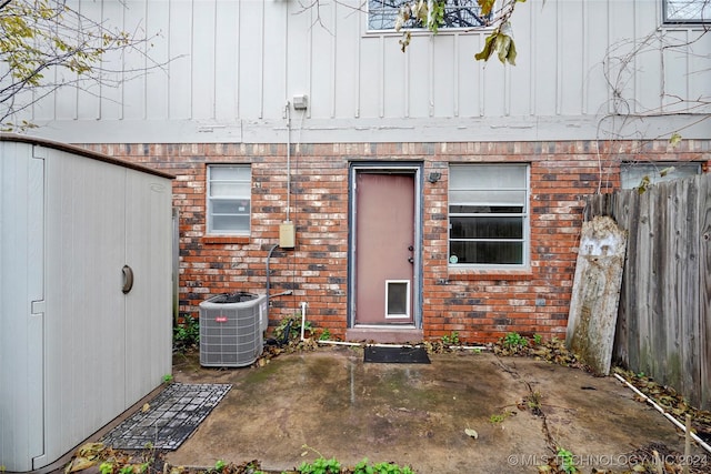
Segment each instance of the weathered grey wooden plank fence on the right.
[[628,232],[613,360],[711,410],[711,174],[588,199]]

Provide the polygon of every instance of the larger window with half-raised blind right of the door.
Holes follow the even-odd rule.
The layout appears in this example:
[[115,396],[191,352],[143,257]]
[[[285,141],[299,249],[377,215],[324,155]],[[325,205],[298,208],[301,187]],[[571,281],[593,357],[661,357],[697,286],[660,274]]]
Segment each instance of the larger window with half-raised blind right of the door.
[[529,249],[529,168],[452,165],[450,266],[524,268]]

